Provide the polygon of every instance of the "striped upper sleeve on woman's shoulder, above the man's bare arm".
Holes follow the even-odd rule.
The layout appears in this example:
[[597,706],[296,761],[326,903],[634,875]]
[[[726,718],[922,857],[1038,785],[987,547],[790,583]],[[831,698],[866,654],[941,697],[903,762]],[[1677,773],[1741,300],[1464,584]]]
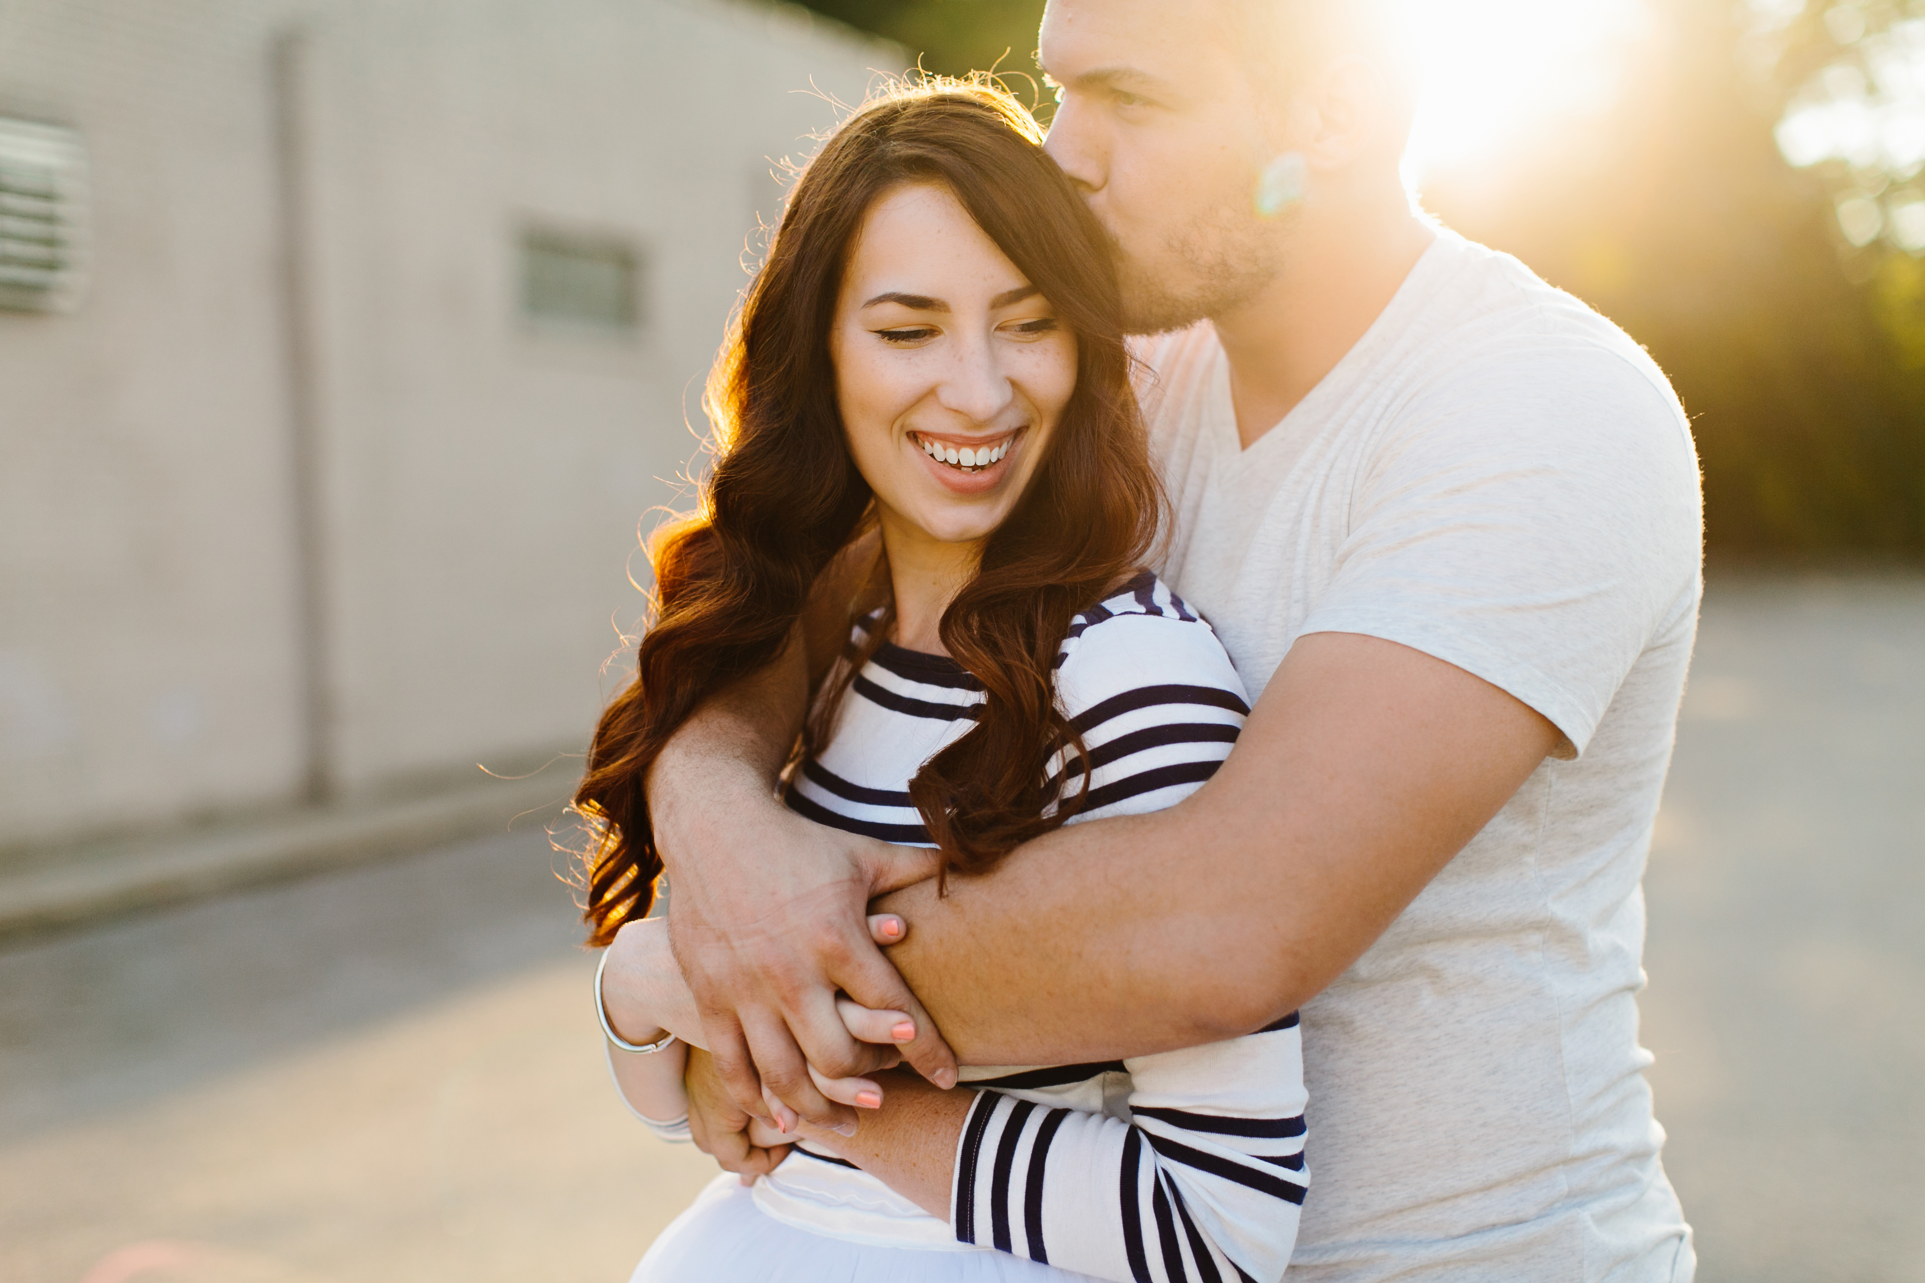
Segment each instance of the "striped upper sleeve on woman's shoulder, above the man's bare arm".
[[[1249,714],[1217,633],[1178,600],[1151,604],[1167,614],[1101,617],[1065,646],[1057,694],[1091,766],[1072,821],[1174,806],[1217,773]],[[1082,762],[1051,764],[1065,767],[1068,802],[1082,791]]]

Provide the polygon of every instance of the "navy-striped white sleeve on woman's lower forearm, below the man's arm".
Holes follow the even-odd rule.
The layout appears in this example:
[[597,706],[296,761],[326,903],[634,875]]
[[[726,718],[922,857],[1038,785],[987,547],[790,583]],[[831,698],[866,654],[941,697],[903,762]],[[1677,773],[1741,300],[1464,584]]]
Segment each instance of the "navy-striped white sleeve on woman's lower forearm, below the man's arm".
[[1118,1283],[1280,1279],[1309,1189],[1297,1018],[1118,1068],[1130,1121],[976,1096],[957,1237]]

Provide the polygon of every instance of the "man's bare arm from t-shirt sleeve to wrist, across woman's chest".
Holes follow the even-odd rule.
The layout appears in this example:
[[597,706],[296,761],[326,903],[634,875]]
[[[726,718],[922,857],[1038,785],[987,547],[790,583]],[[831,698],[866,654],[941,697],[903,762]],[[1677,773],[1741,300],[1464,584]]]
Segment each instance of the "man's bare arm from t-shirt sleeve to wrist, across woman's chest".
[[878,908],[964,1064],[1072,1064],[1236,1037],[1336,979],[1561,744],[1409,646],[1292,646],[1230,758],[1149,816],[1068,825]]

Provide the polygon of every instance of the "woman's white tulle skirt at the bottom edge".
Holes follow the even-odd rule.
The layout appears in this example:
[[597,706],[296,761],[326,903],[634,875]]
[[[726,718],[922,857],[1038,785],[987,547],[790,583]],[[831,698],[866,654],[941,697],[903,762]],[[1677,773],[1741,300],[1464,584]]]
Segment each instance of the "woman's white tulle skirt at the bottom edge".
[[724,1171],[662,1231],[635,1266],[631,1283],[1066,1283],[1088,1277],[955,1241],[897,1246],[791,1225],[757,1206],[755,1193]]

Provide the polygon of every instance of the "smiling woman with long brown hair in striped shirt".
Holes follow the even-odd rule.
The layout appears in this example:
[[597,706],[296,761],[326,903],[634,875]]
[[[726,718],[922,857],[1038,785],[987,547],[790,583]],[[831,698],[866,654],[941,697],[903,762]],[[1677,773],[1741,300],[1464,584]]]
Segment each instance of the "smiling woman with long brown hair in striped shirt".
[[[643,779],[705,696],[776,660],[810,585],[872,529],[878,600],[853,606],[787,775],[812,819],[966,877],[1059,823],[1174,804],[1247,712],[1209,625],[1142,569],[1161,496],[1116,287],[1040,142],[980,85],[855,113],[799,179],[710,377],[703,512],[654,550],[658,614],[578,794],[601,839],[591,943],[656,933],[656,1027],[608,1033],[658,1129],[687,1112],[672,1035],[701,1027],[666,923],[639,921],[662,869]],[[914,1037],[905,1014],[841,1010],[857,1037]],[[862,1106],[857,1135],[766,1131],[795,1152],[753,1189],[720,1177],[635,1277],[1282,1273],[1307,1183],[1296,1018],[962,1079],[824,1083]]]

